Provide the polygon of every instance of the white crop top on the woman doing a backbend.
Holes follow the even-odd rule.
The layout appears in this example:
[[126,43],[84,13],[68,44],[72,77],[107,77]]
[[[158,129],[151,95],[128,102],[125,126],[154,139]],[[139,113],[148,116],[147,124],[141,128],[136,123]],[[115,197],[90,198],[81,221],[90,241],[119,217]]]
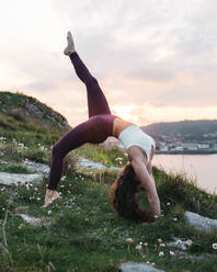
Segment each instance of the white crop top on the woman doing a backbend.
[[126,152],[132,146],[141,147],[147,155],[148,161],[150,159],[151,147],[156,148],[155,139],[136,125],[127,126],[121,132],[118,139],[124,145]]

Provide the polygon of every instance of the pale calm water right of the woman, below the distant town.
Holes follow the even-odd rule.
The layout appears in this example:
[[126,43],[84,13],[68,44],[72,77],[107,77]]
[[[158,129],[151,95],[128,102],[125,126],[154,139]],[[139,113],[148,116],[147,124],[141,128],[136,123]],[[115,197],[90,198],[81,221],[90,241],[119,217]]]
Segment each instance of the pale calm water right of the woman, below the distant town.
[[217,154],[155,155],[153,166],[167,173],[181,173],[207,193],[217,194]]

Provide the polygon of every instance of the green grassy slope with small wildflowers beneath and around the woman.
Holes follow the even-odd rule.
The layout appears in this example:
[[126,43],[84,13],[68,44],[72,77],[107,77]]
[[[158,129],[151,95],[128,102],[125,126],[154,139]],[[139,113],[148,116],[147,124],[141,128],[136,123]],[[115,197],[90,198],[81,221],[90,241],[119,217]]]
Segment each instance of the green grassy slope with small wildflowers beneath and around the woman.
[[[13,118],[9,121],[5,116],[2,121],[13,128],[18,127],[13,131],[8,125],[0,126],[1,136],[5,137],[0,139],[0,160],[16,162],[28,158],[49,163],[50,147],[61,134],[49,129],[45,132],[39,126],[22,129],[21,123]],[[190,209],[217,218],[217,196],[196,189],[181,175],[167,175],[155,169],[164,216],[149,225],[134,224],[119,218],[110,205],[110,185],[116,173],[87,173],[75,169],[78,155],[108,166],[118,166],[115,158],[123,157],[116,149],[105,151],[91,145],[77,149],[67,157],[66,179],[59,186],[62,199],[47,209],[39,208],[47,181],[30,190],[25,186],[0,186],[0,271],[112,272],[117,271],[121,262],[129,260],[155,262],[158,268],[170,272],[216,271],[217,252],[212,245],[217,242],[217,233],[206,235],[190,228],[184,223],[183,212]],[[125,163],[126,158],[123,159]],[[0,169],[5,169],[5,165],[0,162]],[[25,169],[14,170],[12,167],[7,171],[21,172]],[[144,193],[138,199],[140,205],[146,205]],[[44,218],[49,224],[33,227],[13,216],[18,208],[20,213]],[[165,242],[172,236],[193,240],[189,256],[207,256],[194,262],[179,257],[179,252],[176,257],[170,257],[169,250],[173,249],[160,247],[158,238]],[[134,239],[129,247],[125,241],[128,237]],[[148,247],[135,250],[140,241],[148,242]],[[164,258],[158,256],[161,250],[165,252]]]

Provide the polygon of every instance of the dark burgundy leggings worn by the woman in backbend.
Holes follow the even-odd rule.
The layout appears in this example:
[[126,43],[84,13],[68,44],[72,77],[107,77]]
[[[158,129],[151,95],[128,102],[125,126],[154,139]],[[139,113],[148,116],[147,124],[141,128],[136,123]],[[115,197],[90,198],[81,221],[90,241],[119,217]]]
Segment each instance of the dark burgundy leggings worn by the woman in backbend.
[[113,122],[116,118],[111,114],[107,101],[85,65],[75,52],[70,55],[77,76],[87,87],[89,120],[69,131],[53,147],[52,167],[48,189],[56,190],[61,179],[64,158],[72,149],[85,143],[99,144],[112,136]]

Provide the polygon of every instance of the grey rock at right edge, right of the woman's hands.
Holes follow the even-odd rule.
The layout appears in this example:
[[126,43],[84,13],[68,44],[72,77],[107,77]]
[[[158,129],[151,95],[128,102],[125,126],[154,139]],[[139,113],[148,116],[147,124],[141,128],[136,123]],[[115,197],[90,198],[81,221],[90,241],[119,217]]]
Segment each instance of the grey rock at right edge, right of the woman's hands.
[[184,217],[185,220],[197,230],[203,230],[206,233],[217,230],[217,219],[210,219],[189,211],[184,213]]

